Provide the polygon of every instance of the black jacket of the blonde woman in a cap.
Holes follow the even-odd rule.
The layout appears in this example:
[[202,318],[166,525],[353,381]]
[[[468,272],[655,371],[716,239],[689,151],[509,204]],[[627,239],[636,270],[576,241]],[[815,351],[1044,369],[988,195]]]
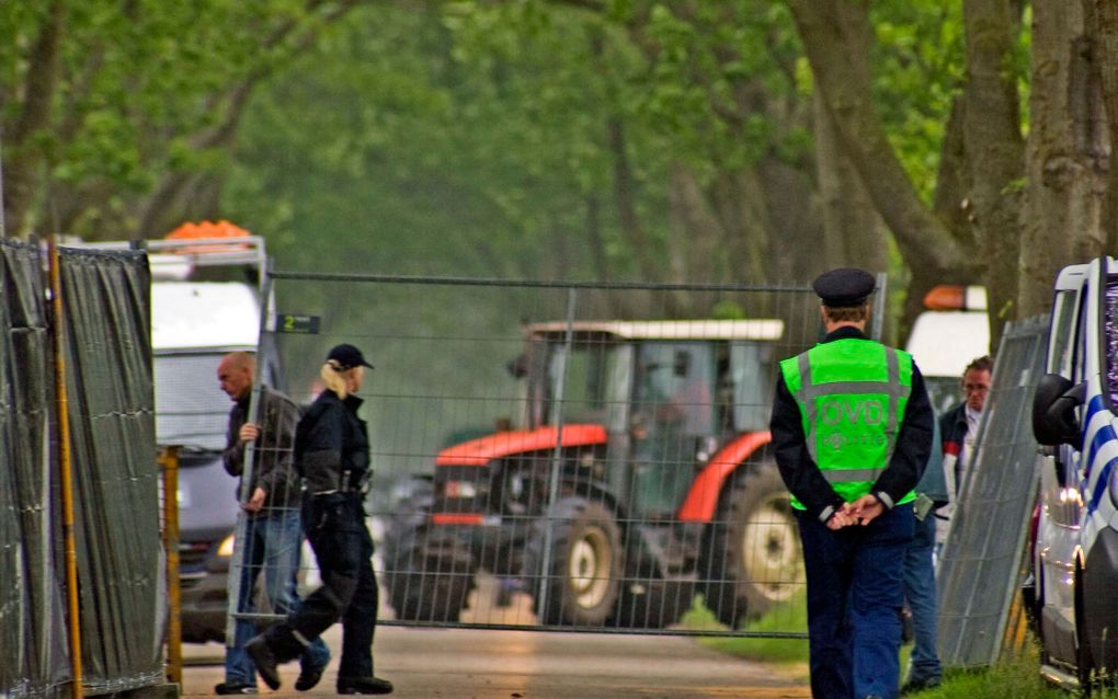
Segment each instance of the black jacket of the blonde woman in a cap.
[[311,494],[349,490],[369,470],[369,431],[357,416],[362,400],[319,394],[295,431],[295,466]]

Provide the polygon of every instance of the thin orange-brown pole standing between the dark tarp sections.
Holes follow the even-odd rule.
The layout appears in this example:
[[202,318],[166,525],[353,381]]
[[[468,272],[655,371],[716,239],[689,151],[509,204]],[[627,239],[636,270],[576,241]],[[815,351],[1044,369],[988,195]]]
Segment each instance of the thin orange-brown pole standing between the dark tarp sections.
[[59,489],[63,497],[63,537],[66,547],[66,588],[69,611],[69,649],[74,699],[85,696],[82,674],[82,608],[77,598],[77,548],[74,544],[74,479],[72,470],[69,399],[66,394],[66,317],[63,312],[63,283],[58,262],[58,247],[54,236],[48,247],[50,271],[50,301],[55,329],[55,406],[58,424]]

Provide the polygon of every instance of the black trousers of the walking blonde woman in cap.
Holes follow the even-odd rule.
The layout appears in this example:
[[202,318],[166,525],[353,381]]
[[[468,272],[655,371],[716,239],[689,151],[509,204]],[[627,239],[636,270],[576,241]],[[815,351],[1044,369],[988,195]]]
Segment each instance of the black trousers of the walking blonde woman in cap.
[[377,626],[377,578],[372,572],[372,538],[364,523],[359,493],[307,497],[303,501],[306,538],[322,574],[322,587],[283,624],[266,633],[281,662],[303,652],[339,618],[342,658],[339,678],[372,677],[372,634]]

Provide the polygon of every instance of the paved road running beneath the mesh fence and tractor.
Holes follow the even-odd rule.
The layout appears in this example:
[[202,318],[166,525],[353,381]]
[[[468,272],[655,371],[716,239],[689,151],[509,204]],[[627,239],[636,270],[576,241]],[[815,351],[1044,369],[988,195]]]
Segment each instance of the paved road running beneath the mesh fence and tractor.
[[[334,660],[310,695],[332,695],[341,635],[325,635]],[[224,679],[219,644],[186,645],[182,695],[212,696]],[[399,699],[709,699],[809,697],[803,679],[724,655],[693,639],[618,634],[476,631],[381,626],[373,645],[377,674]],[[297,663],[282,668],[277,695]],[[260,683],[262,693],[271,693]]]

